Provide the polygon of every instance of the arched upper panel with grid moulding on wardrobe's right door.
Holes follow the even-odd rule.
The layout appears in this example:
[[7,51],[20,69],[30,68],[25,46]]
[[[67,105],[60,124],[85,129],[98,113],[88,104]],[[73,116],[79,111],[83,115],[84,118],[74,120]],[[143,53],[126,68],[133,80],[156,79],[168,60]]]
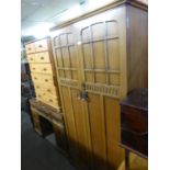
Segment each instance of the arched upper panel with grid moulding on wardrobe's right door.
[[117,21],[98,22],[82,29],[81,42],[86,81],[120,86]]

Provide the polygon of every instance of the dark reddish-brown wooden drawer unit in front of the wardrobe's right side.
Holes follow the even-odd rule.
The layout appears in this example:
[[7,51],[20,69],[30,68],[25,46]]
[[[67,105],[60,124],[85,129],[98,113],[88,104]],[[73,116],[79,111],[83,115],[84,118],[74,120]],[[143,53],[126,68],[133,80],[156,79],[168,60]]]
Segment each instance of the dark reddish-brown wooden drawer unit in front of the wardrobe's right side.
[[147,89],[135,89],[121,102],[121,135],[126,149],[148,156]]

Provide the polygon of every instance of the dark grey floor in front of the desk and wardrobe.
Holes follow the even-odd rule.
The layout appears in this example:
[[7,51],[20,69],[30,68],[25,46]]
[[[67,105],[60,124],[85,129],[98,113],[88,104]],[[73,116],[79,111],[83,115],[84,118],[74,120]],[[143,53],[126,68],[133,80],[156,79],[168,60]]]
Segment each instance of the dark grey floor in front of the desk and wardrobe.
[[29,114],[22,112],[21,170],[76,170],[69,161],[32,127]]

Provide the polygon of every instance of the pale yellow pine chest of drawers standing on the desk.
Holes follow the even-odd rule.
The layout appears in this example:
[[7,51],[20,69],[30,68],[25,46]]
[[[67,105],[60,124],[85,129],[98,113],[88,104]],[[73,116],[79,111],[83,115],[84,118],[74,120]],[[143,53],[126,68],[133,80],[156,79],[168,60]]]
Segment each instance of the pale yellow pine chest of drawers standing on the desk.
[[36,99],[60,111],[50,38],[25,45]]

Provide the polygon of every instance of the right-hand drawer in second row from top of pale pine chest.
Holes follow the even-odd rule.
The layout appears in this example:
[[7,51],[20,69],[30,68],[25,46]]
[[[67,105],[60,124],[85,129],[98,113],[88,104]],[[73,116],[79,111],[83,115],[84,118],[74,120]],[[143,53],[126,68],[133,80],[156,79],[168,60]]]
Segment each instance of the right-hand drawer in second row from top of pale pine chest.
[[35,60],[36,60],[36,63],[41,63],[41,64],[50,63],[48,52],[36,53],[35,54]]

